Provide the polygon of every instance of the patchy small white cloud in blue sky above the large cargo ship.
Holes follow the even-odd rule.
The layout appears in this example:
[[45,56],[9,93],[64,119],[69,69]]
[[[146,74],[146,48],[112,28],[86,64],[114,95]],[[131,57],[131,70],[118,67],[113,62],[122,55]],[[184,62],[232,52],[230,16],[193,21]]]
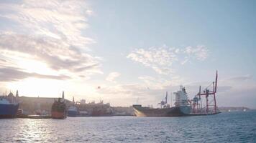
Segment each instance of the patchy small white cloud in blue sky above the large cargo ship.
[[204,61],[208,57],[208,52],[209,50],[205,46],[188,46],[184,49],[160,46],[134,49],[127,55],[127,58],[152,68],[158,74],[173,74],[172,65],[175,62],[181,61],[180,64],[183,65],[190,62],[191,59]]

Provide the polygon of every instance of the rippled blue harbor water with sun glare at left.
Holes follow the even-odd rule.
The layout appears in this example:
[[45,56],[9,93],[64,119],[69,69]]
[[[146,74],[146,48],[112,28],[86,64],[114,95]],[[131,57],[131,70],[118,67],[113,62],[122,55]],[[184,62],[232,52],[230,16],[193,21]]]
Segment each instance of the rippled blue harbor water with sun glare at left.
[[256,142],[256,112],[0,119],[0,142]]

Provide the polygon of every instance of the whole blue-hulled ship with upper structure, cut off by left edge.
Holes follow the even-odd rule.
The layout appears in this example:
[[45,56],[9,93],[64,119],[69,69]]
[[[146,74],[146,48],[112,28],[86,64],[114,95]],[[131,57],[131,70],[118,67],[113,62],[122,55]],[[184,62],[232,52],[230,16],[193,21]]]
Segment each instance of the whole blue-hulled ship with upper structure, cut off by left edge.
[[19,103],[12,92],[8,96],[0,97],[0,118],[14,118],[17,115],[18,109]]

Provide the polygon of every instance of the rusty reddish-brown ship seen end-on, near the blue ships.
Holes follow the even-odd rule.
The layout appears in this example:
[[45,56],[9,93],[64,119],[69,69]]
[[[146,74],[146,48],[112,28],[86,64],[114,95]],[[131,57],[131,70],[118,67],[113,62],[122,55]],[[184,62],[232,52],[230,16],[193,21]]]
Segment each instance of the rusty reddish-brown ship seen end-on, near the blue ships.
[[52,119],[65,119],[67,117],[65,102],[62,102],[60,98],[58,101],[54,101],[52,104]]

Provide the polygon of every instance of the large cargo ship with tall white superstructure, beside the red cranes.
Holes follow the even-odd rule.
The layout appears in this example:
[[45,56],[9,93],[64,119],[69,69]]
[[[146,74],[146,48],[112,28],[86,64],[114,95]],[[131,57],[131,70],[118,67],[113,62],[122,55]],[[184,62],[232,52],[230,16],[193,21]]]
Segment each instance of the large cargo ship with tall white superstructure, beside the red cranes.
[[188,95],[185,87],[180,86],[180,90],[175,92],[175,107],[168,104],[168,92],[166,92],[165,102],[160,102],[160,108],[142,107],[134,104],[134,114],[137,117],[180,117],[191,113],[191,106],[188,104]]

